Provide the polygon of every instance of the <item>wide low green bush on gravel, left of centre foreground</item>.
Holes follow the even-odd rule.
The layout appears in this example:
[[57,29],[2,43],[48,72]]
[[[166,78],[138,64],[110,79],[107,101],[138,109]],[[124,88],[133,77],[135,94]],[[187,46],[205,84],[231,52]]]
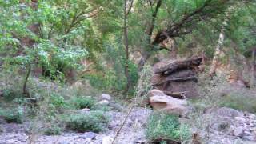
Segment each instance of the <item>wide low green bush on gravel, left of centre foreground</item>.
[[66,127],[70,130],[98,133],[106,129],[110,120],[102,111],[90,111],[86,114],[71,114],[66,121]]

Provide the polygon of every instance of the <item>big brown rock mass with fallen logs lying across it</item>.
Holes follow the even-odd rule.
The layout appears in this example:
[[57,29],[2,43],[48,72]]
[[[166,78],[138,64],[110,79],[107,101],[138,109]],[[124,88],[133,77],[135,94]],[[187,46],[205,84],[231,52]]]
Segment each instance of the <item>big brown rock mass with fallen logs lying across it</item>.
[[198,96],[196,89],[198,66],[202,58],[190,58],[183,61],[158,62],[154,65],[152,86],[175,98]]

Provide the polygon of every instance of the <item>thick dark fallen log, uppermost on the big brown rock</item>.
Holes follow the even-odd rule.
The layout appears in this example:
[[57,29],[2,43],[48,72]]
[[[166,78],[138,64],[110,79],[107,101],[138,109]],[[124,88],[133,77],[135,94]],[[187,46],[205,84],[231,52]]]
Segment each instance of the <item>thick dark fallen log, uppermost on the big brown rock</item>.
[[199,66],[202,62],[202,58],[190,58],[184,61],[171,62],[165,66],[160,66],[154,69],[155,74],[171,74],[177,70],[193,69],[195,66]]

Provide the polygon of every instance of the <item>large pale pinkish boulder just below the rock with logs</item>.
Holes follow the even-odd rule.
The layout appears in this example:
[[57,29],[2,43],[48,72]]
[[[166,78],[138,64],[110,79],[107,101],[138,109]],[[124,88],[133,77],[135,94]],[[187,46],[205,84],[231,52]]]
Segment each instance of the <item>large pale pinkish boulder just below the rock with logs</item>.
[[160,90],[150,91],[150,105],[154,110],[165,111],[185,117],[189,112],[186,100],[170,97]]

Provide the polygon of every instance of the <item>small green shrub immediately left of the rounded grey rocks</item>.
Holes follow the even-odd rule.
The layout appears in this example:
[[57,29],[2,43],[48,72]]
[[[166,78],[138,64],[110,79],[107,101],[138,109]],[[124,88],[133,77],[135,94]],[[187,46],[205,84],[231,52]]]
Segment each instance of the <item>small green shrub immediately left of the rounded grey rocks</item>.
[[74,98],[73,101],[74,101],[74,106],[77,109],[84,109],[84,108],[90,109],[96,103],[95,99],[91,97],[77,97],[77,98]]

